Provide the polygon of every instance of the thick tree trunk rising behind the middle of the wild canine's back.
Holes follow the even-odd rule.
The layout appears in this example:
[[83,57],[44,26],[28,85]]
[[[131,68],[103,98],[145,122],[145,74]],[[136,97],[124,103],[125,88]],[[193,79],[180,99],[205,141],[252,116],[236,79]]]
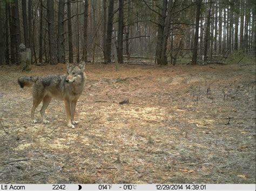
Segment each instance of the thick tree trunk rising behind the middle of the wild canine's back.
[[47,0],[49,53],[51,65],[56,65],[58,63],[54,18],[54,1]]

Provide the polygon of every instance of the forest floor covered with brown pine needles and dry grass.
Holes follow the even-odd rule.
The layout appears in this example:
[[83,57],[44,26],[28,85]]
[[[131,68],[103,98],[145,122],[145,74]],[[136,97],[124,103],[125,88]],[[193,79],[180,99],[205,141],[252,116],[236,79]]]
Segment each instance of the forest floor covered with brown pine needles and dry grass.
[[58,100],[31,124],[17,78],[65,69],[0,68],[1,183],[255,183],[254,65],[89,64],[76,128]]

